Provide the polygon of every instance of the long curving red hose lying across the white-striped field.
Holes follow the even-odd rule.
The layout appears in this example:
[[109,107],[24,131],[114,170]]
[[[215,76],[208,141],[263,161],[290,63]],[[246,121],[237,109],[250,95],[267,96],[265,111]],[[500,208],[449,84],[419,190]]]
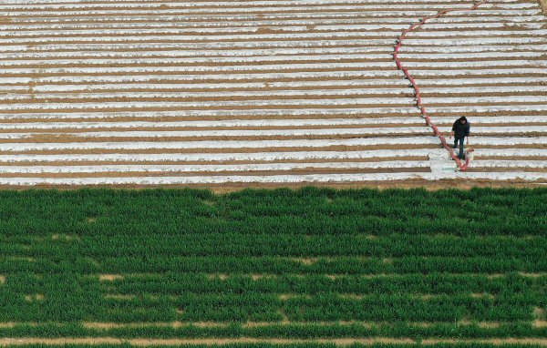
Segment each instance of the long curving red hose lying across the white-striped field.
[[[542,1],[542,0],[540,0],[540,1]],[[488,3],[488,0],[483,0],[480,3],[477,3],[477,4],[473,5],[467,11],[476,10],[480,5],[484,5],[486,3]],[[437,128],[437,126],[435,126],[435,124],[433,124],[433,122],[431,122],[431,118],[428,117],[426,107],[424,107],[424,105],[422,104],[421,94],[420,94],[420,89],[418,87],[418,83],[410,75],[410,73],[408,72],[408,69],[402,65],[401,61],[398,59],[398,56],[397,56],[398,55],[398,50],[401,46],[403,46],[403,40],[407,37],[408,33],[414,31],[414,29],[418,26],[423,26],[429,19],[439,18],[442,15],[446,15],[449,12],[454,12],[454,11],[462,11],[462,10],[459,9],[459,8],[455,8],[455,9],[448,9],[448,10],[444,10],[444,11],[439,11],[439,13],[437,15],[425,16],[425,17],[422,18],[422,20],[420,22],[409,26],[408,29],[405,29],[402,32],[401,36],[398,37],[397,45],[395,46],[395,50],[393,52],[393,59],[395,60],[395,63],[397,64],[397,69],[401,70],[405,74],[405,77],[408,78],[408,80],[410,81],[410,84],[414,88],[415,96],[416,96],[416,107],[418,107],[420,109],[422,118],[425,118],[426,124],[430,128],[433,129],[433,132],[440,139],[440,142],[442,143],[443,147],[446,148],[449,151],[450,157],[452,159],[454,159],[454,161],[456,161],[456,164],[458,165],[459,169],[461,171],[465,171],[468,168],[469,164],[470,164],[470,159],[467,158],[465,163],[462,164],[461,161],[459,160],[459,158],[454,154],[454,151],[452,150],[452,148],[449,147],[449,145],[447,144],[447,140],[439,132],[439,128]]]

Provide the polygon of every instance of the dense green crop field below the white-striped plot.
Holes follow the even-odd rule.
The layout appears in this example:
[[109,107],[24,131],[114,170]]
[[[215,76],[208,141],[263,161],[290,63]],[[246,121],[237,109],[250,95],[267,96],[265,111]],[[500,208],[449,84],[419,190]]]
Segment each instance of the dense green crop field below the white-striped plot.
[[0,344],[546,346],[545,201],[0,191]]

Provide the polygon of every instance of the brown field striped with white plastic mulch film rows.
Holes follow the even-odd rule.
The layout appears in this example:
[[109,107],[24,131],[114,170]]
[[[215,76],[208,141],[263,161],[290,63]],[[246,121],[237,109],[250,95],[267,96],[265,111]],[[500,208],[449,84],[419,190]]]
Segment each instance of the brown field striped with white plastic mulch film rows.
[[547,17],[472,5],[2,0],[0,186],[546,184]]

